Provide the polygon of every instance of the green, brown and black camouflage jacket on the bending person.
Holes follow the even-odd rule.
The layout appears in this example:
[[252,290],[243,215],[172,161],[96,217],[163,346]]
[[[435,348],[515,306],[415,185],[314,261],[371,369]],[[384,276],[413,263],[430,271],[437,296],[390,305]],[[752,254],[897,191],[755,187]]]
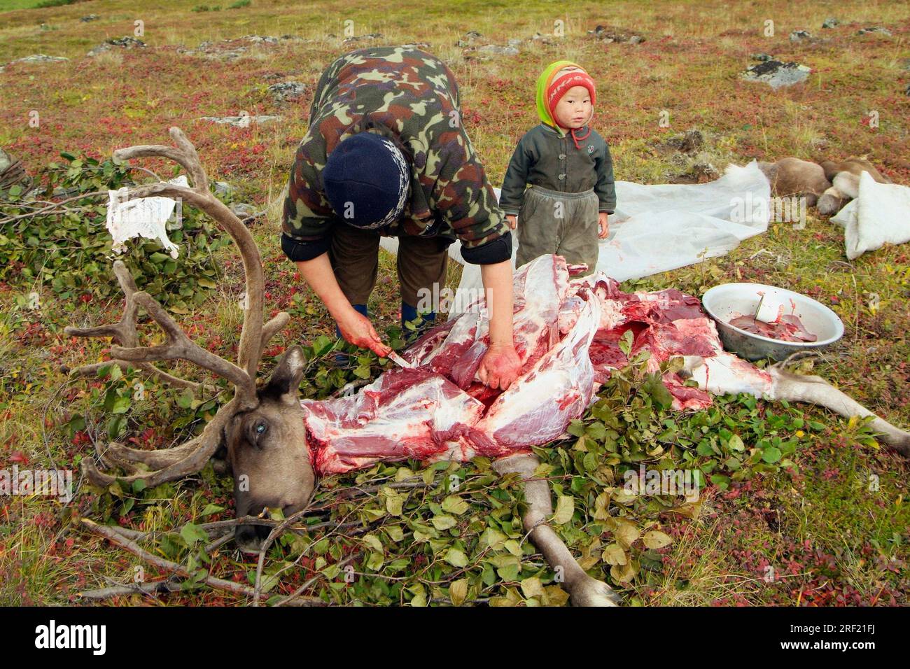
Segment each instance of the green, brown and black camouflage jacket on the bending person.
[[[320,174],[339,142],[358,132],[389,137],[410,159],[409,201],[384,236],[460,238],[470,263],[511,258],[511,231],[460,122],[458,84],[439,58],[410,46],[352,51],[323,72],[284,205],[282,248],[293,260],[329,248],[336,216]],[[292,248],[288,252],[288,248]]]

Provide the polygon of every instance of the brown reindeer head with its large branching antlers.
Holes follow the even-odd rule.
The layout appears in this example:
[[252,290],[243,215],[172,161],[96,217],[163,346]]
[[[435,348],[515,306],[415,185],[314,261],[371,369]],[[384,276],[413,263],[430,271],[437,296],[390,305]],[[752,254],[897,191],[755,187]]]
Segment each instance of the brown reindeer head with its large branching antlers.
[[[170,128],[170,136],[176,147],[129,147],[117,150],[114,155],[123,160],[167,157],[185,167],[192,179],[192,188],[159,182],[132,188],[130,198],[181,198],[214,218],[237,244],[247,281],[237,363],[219,358],[190,340],[157,300],[136,288],[136,281],[120,261],[114,263],[114,273],[126,295],[121,319],[95,328],[66,328],[65,332],[76,337],[111,337],[116,340],[110,350],[113,364],[144,370],[179,387],[200,389],[201,382],[181,379],[152,364],[162,360],[188,360],[226,379],[234,387],[234,397],[221,407],[199,436],[182,446],[165,451],[139,451],[117,443],[96,444],[99,459],[106,466],[120,466],[134,471],[132,474],[115,477],[102,473],[89,458],[83,460],[83,470],[88,479],[98,485],[141,479],[147,486],[154,486],[201,470],[223,446],[234,474],[239,517],[258,515],[266,507],[280,508],[286,514],[297,512],[306,506],[315,485],[303,410],[298,400],[305,362],[303,351],[299,347],[288,349],[268,384],[257,390],[257,369],[262,351],[268,340],[288,323],[288,314],[281,312],[263,323],[265,279],[256,242],[239,218],[209,192],[208,178],[199,163],[196,148],[177,127]],[[140,308],[164,330],[166,340],[163,344],[139,345],[136,317]],[[112,362],[85,365],[73,373],[95,374],[99,367]],[[137,463],[146,465],[149,471],[138,471]],[[268,526],[262,525],[238,525],[236,532],[238,543],[245,550],[257,548],[257,539],[267,534]]]

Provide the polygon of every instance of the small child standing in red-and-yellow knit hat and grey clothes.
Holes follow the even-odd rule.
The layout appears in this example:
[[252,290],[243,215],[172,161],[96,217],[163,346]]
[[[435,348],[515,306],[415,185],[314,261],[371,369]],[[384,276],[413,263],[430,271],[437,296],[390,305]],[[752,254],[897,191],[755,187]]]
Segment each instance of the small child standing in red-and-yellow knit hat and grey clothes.
[[549,253],[587,264],[582,274],[597,266],[616,190],[610,147],[589,126],[596,101],[593,79],[570,61],[537,80],[541,125],[521,137],[500,197],[509,225],[518,226],[517,267]]

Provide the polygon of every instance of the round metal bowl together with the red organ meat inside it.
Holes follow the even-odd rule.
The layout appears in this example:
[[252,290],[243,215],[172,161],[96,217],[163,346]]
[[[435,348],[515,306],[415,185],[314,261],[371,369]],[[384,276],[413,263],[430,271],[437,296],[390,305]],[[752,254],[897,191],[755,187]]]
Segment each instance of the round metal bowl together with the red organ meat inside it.
[[[702,303],[717,321],[723,348],[746,360],[784,360],[798,350],[824,349],[844,336],[844,323],[834,311],[793,290],[725,283],[705,292]],[[754,318],[760,303],[773,305],[772,317]]]

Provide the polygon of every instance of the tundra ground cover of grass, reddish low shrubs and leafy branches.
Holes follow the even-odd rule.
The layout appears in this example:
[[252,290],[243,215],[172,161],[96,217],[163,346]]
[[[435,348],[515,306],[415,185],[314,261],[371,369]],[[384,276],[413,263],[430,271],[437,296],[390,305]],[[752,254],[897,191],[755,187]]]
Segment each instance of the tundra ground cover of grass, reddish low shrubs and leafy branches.
[[[123,0],[39,4],[0,0],[0,62],[39,53],[69,58],[0,72],[0,147],[23,160],[40,188],[29,200],[25,188],[13,187],[0,202],[0,469],[72,470],[76,491],[66,505],[49,496],[0,497],[0,603],[568,599],[522,530],[521,487],[483,459],[385,463],[323,479],[307,514],[273,532],[261,557],[230,542],[233,481],[212,464],[154,486],[142,479],[96,486],[79,474],[96,443],[151,449],[188,441],[232,394],[227,381],[199,376],[183,362],[174,371],[200,381],[195,390],[115,365],[89,378],[65,372],[105,360],[110,345],[67,336],[64,328],[109,322],[123,305],[111,280],[106,191],[157,180],[117,164],[111,156],[118,147],[169,144],[167,127],[179,126],[211,180],[233,187],[217,197],[264,212],[249,230],[264,261],[265,317],[287,311],[290,319],[263,350],[260,376],[299,344],[306,358],[300,396],[312,398],[375,378],[390,364],[364,351],[345,367],[336,364],[334,323],[278,247],[280,193],[313,86],[345,50],[422,43],[445,59],[495,184],[517,139],[536,123],[536,76],[561,57],[584,64],[598,82],[596,126],[612,147],[618,178],[692,183],[713,178],[710,167],[727,162],[866,156],[895,183],[910,183],[906,5],[630,3],[607,14],[588,2],[560,5],[554,15],[552,3],[537,0],[520,13],[507,3],[441,0],[381,12],[318,0],[306,13],[265,0],[207,12],[174,0],[141,10]],[[96,18],[80,20],[89,13]],[[839,24],[823,29],[832,13]],[[773,36],[764,35],[768,19]],[[107,39],[134,36],[136,20],[146,47],[126,42],[86,56]],[[589,34],[597,25],[606,27]],[[890,34],[858,34],[876,25]],[[800,29],[813,37],[791,40]],[[812,73],[777,90],[743,81],[739,74],[756,52]],[[288,81],[304,85],[298,98],[270,93]],[[239,127],[200,120],[241,112],[280,119]],[[679,142],[671,140],[693,127],[703,144],[674,148]],[[140,162],[159,177],[176,174],[168,161],[131,165]],[[48,204],[65,199],[62,207]],[[191,207],[169,234],[180,246],[177,260],[151,241],[131,243],[121,259],[137,288],[192,340],[235,359],[245,292],[235,249]],[[847,262],[843,231],[810,209],[804,229],[773,223],[727,256],[622,289],[673,287],[700,296],[742,280],[819,299],[844,320],[844,339],[824,356],[794,362],[794,370],[824,376],[906,427],[908,252],[883,248]],[[379,275],[369,309],[400,349],[410,330],[398,325],[395,259],[384,252]],[[459,278],[453,263],[448,286]],[[144,331],[146,343],[162,341],[156,329]],[[536,450],[553,494],[551,525],[626,603],[907,603],[907,464],[865,421],[746,396],[673,412],[665,389],[637,361],[604,386],[570,432],[571,439]],[[622,474],[642,464],[699,471],[699,499],[629,494]],[[285,524],[279,513],[262,522]]]

